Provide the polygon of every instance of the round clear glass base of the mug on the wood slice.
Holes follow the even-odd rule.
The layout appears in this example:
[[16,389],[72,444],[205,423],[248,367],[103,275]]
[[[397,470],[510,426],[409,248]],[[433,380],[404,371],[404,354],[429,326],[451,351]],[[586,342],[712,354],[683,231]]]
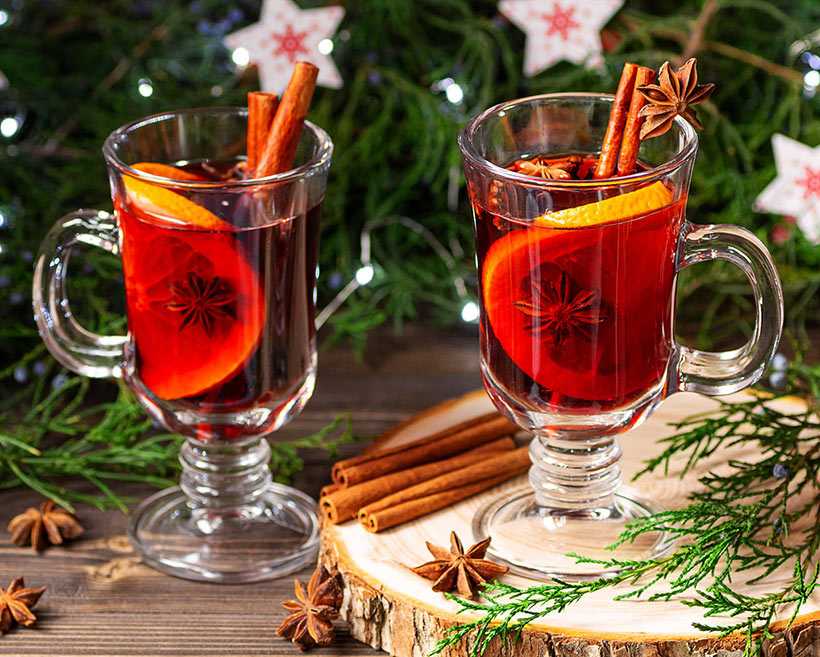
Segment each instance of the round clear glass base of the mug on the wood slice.
[[539,506],[530,486],[507,491],[485,504],[473,518],[476,541],[492,542],[487,558],[510,571],[548,581],[589,580],[616,572],[598,564],[578,564],[574,552],[593,559],[644,561],[667,554],[674,539],[666,532],[639,536],[616,550],[604,549],[618,540],[624,527],[661,508],[629,488],[619,488],[610,507],[565,510]]

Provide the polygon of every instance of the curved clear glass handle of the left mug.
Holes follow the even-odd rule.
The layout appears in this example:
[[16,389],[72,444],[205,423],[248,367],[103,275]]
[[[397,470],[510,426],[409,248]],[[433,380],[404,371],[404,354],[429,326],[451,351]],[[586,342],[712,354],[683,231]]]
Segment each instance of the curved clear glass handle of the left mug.
[[74,319],[66,297],[68,260],[75,246],[90,244],[119,255],[117,225],[107,212],[78,210],[49,231],[34,269],[34,319],[51,354],[68,369],[92,377],[122,377],[124,335],[97,335]]

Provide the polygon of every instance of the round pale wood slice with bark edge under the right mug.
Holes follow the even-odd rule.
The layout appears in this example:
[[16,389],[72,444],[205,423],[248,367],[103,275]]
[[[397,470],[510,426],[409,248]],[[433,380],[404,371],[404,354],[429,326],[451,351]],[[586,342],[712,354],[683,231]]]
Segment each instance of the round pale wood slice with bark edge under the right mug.
[[[748,399],[736,395],[729,399]],[[726,399],[726,398],[724,398]],[[797,399],[780,400],[778,408],[799,412],[805,405]],[[716,403],[700,395],[677,394],[663,402],[638,429],[622,436],[624,456],[621,468],[624,481],[629,482],[643,461],[660,453],[657,440],[671,435],[668,423],[694,413],[716,407]],[[447,426],[490,412],[492,404],[484,391],[440,404],[402,423],[385,435],[374,449],[384,449],[430,435]],[[707,471],[724,471],[729,459],[753,461],[757,453],[751,447],[721,450],[698,464],[696,471],[680,477],[683,459],[674,462],[667,475],[662,471],[642,476],[634,484],[646,496],[666,508],[686,505],[687,494]],[[409,568],[432,557],[425,541],[449,545],[451,530],[462,538],[465,547],[473,543],[471,521],[475,511],[502,489],[525,485],[526,477],[518,477],[459,504],[442,509],[393,529],[371,534],[357,521],[341,525],[325,525],[322,530],[323,563],[340,571],[345,594],[341,617],[358,640],[389,652],[396,657],[423,657],[447,628],[476,616],[463,613],[456,616],[458,606],[441,593],[431,590],[431,582]],[[798,530],[798,527],[794,527]],[[617,551],[610,553],[617,557]],[[785,581],[788,572],[776,572],[762,584],[742,584],[754,573],[737,579],[742,591],[761,595],[774,590]],[[537,582],[518,575],[505,575],[503,581],[518,587]],[[649,602],[647,600],[615,601],[613,598],[630,590],[628,586],[590,594],[581,602],[560,614],[552,614],[529,625],[518,643],[500,643],[487,651],[491,655],[530,657],[684,657],[696,655],[739,656],[745,637],[732,635],[723,639],[692,627],[696,621],[720,622],[720,617],[704,619],[697,609],[678,601]],[[775,638],[767,642],[764,652],[772,657],[820,656],[820,595],[805,605],[801,615],[787,628],[788,616],[774,626]],[[465,641],[447,657],[467,654]]]

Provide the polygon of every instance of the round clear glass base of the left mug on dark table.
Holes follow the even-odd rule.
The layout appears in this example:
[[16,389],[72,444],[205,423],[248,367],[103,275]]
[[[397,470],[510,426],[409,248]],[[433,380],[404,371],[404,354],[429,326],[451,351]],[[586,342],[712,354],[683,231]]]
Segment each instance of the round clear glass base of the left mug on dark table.
[[316,561],[316,502],[271,484],[251,505],[197,508],[179,487],[146,499],[128,538],[143,561],[185,579],[239,583],[281,577]]

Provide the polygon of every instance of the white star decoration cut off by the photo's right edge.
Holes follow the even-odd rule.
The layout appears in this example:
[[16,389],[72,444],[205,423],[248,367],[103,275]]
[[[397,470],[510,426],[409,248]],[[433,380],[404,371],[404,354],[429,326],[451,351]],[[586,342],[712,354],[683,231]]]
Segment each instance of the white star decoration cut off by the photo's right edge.
[[754,203],[758,212],[794,217],[807,239],[820,244],[820,146],[772,136],[777,177]]

